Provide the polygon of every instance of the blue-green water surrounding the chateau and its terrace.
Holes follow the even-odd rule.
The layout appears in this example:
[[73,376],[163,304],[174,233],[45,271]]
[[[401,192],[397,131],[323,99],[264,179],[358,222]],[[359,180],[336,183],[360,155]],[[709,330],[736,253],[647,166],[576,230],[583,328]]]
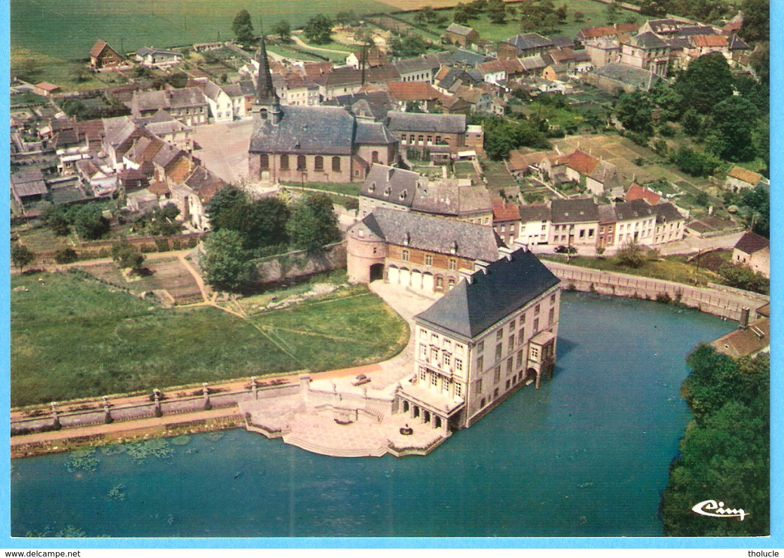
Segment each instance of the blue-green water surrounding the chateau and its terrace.
[[587,294],[564,293],[561,308],[554,380],[426,457],[329,458],[235,429],[170,443],[169,458],[98,450],[94,471],[67,454],[20,459],[12,534],[659,535],[659,493],[690,419],[684,358],[735,324]]

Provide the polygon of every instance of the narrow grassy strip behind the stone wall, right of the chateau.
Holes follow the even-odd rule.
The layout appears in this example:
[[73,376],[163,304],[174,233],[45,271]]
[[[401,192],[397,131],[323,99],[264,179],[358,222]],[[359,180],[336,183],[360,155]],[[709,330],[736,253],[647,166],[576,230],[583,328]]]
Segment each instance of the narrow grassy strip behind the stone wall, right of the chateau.
[[[566,263],[565,255],[539,255],[541,259],[550,259],[555,262]],[[680,255],[670,255],[666,258],[658,258],[646,261],[642,266],[633,267],[622,266],[618,263],[615,256],[606,258],[592,258],[589,256],[573,256],[569,262],[572,266],[590,267],[594,270],[615,271],[620,274],[640,275],[641,277],[651,277],[652,279],[663,279],[665,281],[677,281],[684,284],[699,285],[708,283],[723,283],[720,275],[706,270],[700,266],[699,270],[696,263],[686,263],[686,257]]]

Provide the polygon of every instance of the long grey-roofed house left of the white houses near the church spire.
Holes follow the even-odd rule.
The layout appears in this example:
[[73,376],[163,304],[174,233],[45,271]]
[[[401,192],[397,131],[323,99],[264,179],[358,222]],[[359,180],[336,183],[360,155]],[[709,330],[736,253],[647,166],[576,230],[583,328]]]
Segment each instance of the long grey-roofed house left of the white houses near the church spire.
[[209,122],[209,102],[198,87],[135,91],[126,104],[134,118],[152,116],[164,110],[187,126]]

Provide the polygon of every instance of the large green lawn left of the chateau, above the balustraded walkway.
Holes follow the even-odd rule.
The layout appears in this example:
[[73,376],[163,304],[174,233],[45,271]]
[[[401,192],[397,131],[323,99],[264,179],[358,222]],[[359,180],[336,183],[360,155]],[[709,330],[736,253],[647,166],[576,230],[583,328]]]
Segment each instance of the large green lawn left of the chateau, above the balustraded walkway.
[[405,321],[363,286],[251,321],[212,307],[163,310],[74,274],[15,275],[11,287],[28,289],[11,293],[15,406],[345,368],[408,340]]

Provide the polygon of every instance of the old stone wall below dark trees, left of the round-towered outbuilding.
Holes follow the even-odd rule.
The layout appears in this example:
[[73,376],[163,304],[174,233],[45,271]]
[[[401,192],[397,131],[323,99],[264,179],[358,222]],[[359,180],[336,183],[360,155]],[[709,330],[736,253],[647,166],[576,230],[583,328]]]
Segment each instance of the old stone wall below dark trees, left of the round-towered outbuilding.
[[259,282],[277,283],[346,267],[346,241],[322,250],[299,250],[254,260]]

